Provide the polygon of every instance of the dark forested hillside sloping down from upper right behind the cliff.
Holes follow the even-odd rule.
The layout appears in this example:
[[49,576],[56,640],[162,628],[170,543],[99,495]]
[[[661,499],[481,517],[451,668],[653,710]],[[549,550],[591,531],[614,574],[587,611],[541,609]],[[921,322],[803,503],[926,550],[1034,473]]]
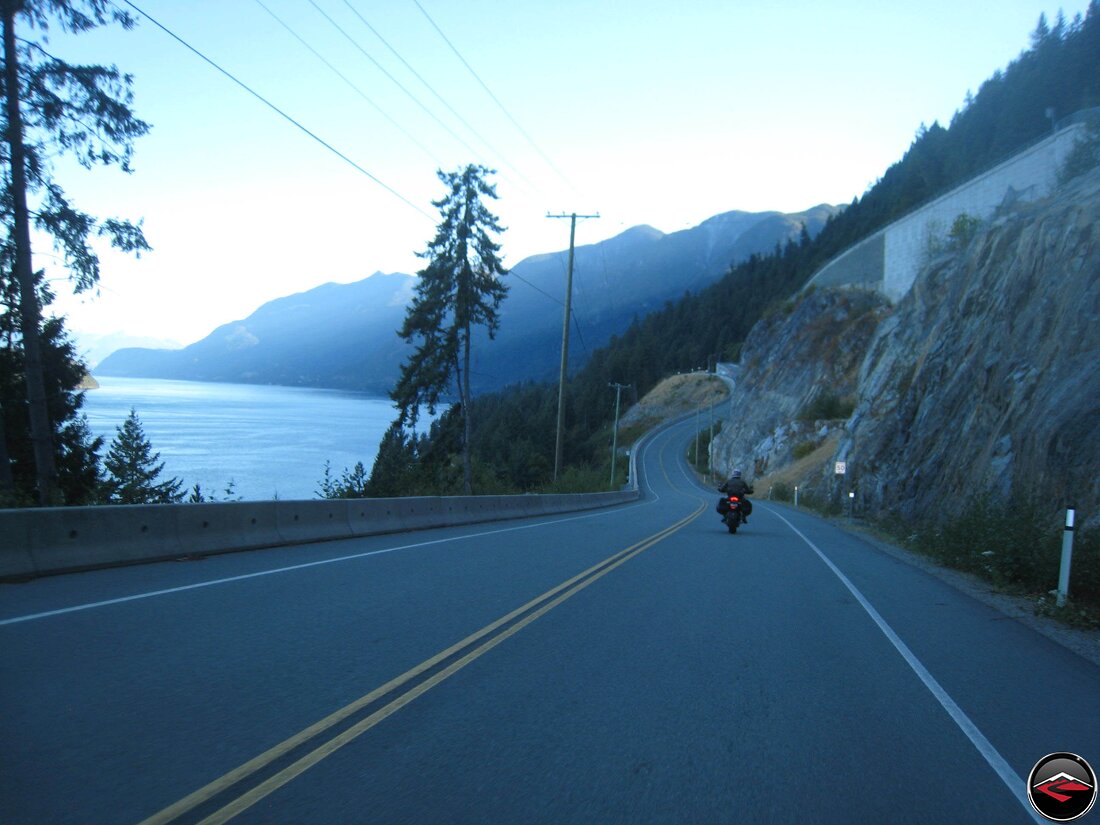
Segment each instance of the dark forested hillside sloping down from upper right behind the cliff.
[[[921,125],[909,151],[882,178],[811,239],[803,233],[766,256],[734,266],[716,284],[684,296],[635,323],[597,352],[568,386],[565,462],[575,468],[608,459],[614,411],[609,382],[638,395],[663,375],[736,360],[741,342],[825,262],[917,205],[949,190],[1052,129],[1055,118],[1100,106],[1100,2],[1087,15],[1053,24],[1041,18],[1031,48],[967,95],[944,128]],[[475,398],[473,447],[483,490],[534,490],[552,466],[554,384],[526,385]],[[429,439],[393,431],[376,465],[376,495],[453,490],[446,459],[459,433],[447,417]]]

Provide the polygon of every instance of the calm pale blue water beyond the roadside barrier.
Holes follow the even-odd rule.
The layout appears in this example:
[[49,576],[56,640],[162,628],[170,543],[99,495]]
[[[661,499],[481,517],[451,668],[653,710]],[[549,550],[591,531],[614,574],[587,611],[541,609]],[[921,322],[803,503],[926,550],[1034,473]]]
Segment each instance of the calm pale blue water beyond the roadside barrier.
[[316,498],[331,461],[334,475],[362,461],[367,473],[395,417],[388,398],[338,389],[98,378],[85,395],[106,455],[116,429],[138,410],[164,462],[163,477],[224,497],[232,481],[245,499]]

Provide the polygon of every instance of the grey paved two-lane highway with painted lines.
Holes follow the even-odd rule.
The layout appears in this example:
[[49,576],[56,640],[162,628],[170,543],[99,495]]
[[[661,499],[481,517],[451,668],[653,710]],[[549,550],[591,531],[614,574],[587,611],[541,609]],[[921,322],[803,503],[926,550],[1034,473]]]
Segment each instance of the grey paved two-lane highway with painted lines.
[[0,585],[0,821],[1027,823],[1100,767],[1100,668],[791,508],[728,535],[691,425],[629,506]]

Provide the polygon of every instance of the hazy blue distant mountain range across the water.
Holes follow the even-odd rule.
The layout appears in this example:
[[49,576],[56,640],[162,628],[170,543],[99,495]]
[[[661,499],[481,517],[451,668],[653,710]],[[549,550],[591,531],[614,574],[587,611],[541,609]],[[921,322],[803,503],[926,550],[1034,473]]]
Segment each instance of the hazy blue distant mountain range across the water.
[[[583,364],[634,318],[707,286],[733,263],[798,239],[803,224],[815,235],[838,210],[822,205],[795,215],[734,211],[681,232],[635,227],[579,246],[570,367]],[[496,340],[481,336],[475,342],[471,372],[476,389],[557,375],[566,258],[564,251],[536,255],[513,267]],[[324,284],[268,301],[182,350],[119,350],[94,373],[385,394],[407,354],[396,330],[415,283],[410,275],[375,273],[353,284]]]

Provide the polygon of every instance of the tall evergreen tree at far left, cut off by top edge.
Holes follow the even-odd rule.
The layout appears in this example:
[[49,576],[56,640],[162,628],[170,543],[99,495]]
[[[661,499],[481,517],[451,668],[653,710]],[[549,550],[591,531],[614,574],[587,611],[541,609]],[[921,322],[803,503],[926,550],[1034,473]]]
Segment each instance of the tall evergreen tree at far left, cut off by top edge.
[[[124,251],[147,249],[141,229],[129,221],[100,223],[76,209],[54,180],[51,161],[67,153],[87,168],[118,165],[129,172],[132,142],[148,127],[130,110],[128,76],[114,67],[70,65],[43,46],[51,24],[70,33],[112,22],[129,29],[134,21],[127,12],[110,0],[2,0],[0,15],[4,64],[0,170],[6,233],[0,244],[0,279],[10,278],[19,294],[19,343],[24,351],[35,488],[40,504],[52,504],[59,497],[55,425],[43,372],[42,305],[31,257],[31,221],[38,231],[53,235],[77,292],[91,288],[99,279],[99,260],[89,246],[90,237],[106,235]],[[19,37],[16,20],[30,30]],[[36,38],[32,36],[35,31]],[[6,477],[7,472],[0,473],[0,480]]]

